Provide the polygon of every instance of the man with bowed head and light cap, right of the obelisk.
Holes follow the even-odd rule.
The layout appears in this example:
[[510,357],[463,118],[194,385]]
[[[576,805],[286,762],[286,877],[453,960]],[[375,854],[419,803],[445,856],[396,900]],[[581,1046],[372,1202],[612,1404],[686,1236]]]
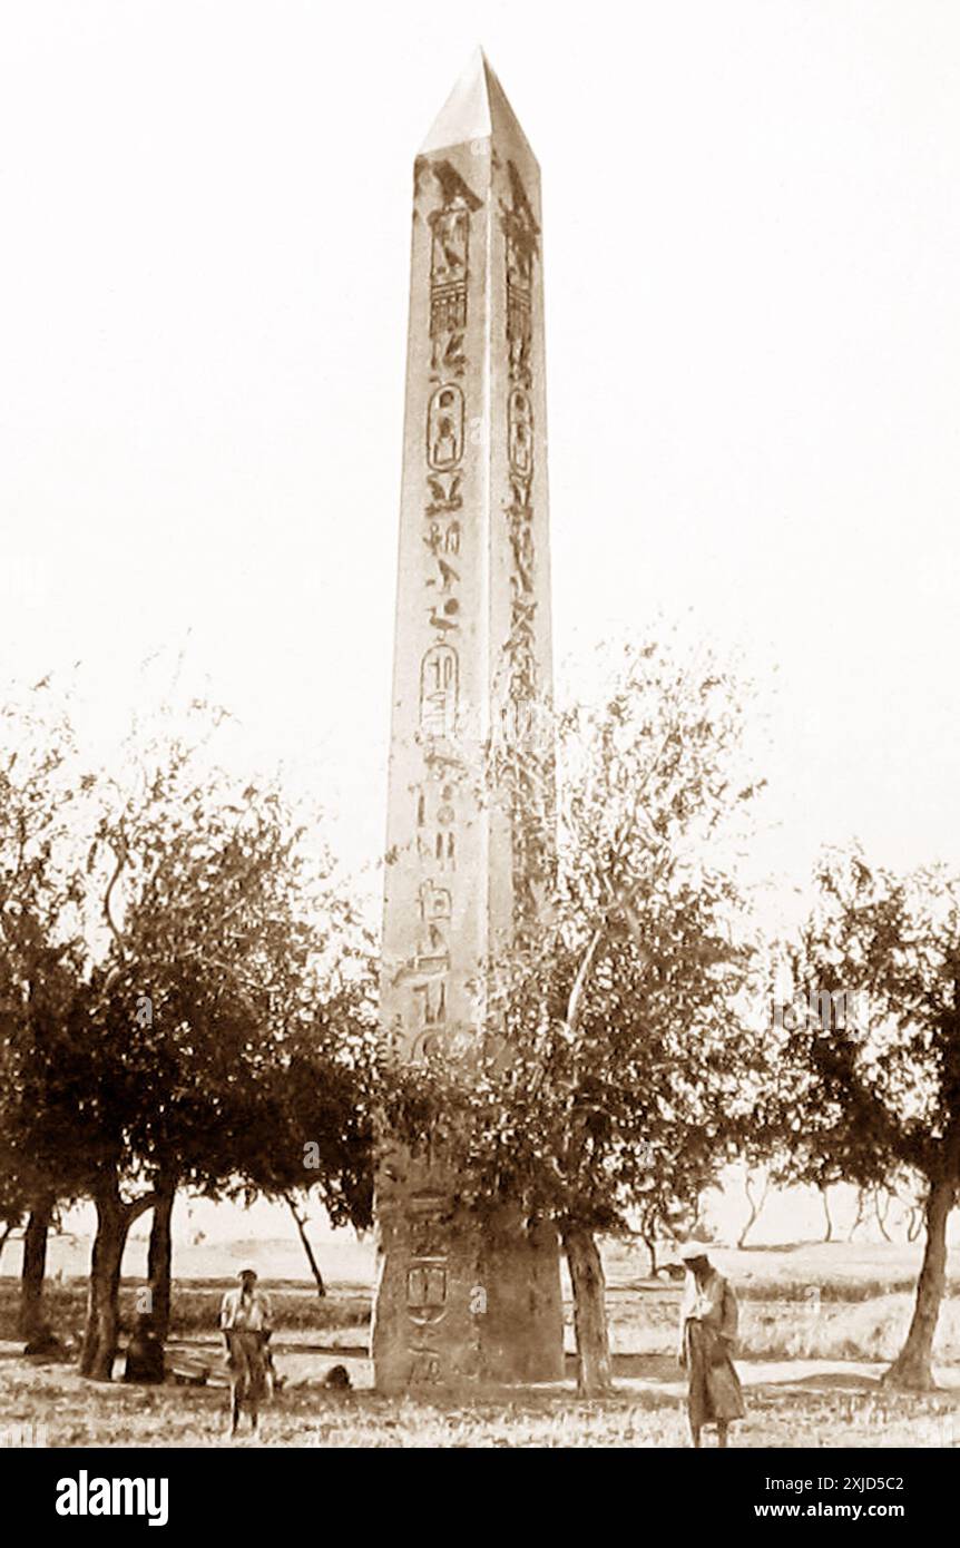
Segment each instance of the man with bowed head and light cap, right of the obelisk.
[[737,1297],[700,1241],[689,1241],[680,1259],[686,1286],[678,1358],[687,1373],[691,1435],[698,1447],[703,1426],[715,1424],[717,1444],[726,1446],[729,1421],[743,1418],[743,1392],[731,1359],[737,1339]]

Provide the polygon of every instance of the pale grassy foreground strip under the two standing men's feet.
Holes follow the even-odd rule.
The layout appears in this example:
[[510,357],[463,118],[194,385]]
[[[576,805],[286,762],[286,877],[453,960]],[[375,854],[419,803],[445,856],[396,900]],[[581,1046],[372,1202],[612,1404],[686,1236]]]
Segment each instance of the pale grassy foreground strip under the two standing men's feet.
[[[683,1446],[686,1426],[678,1372],[661,1358],[618,1372],[602,1402],[578,1401],[570,1381],[505,1392],[471,1404],[379,1398],[369,1389],[333,1395],[321,1385],[330,1351],[310,1351],[314,1375],[293,1379],[265,1412],[254,1440],[225,1435],[226,1389],[135,1389],[85,1382],[71,1368],[31,1367],[0,1348],[0,1435],[46,1446],[353,1446],[353,1447],[553,1447]],[[347,1358],[362,1379],[359,1361]],[[291,1350],[277,1350],[290,1370]],[[924,1398],[876,1387],[881,1367],[824,1362],[740,1362],[746,1420],[737,1446],[960,1446],[957,1385]],[[949,1373],[948,1373],[949,1379]],[[9,1441],[8,1441],[9,1444]]]

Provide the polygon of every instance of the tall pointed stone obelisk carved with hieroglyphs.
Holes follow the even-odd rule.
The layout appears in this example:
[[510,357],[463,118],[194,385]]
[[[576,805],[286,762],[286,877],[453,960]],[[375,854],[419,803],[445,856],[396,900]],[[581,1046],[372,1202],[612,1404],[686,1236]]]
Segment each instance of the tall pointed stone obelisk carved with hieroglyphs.
[[[550,697],[540,175],[483,53],[417,156],[381,1023],[398,1057],[469,1046],[537,907],[480,749]],[[542,881],[542,876],[540,876]],[[381,1152],[382,1392],[562,1375],[556,1234],[505,1200],[454,1218],[441,1170]]]

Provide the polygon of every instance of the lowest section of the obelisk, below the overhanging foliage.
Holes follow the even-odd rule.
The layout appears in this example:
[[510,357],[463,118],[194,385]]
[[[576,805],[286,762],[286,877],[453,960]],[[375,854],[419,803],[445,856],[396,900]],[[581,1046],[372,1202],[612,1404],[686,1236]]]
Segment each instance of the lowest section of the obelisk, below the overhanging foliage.
[[556,1231],[418,1211],[379,1214],[372,1356],[384,1393],[559,1381],[564,1308]]

